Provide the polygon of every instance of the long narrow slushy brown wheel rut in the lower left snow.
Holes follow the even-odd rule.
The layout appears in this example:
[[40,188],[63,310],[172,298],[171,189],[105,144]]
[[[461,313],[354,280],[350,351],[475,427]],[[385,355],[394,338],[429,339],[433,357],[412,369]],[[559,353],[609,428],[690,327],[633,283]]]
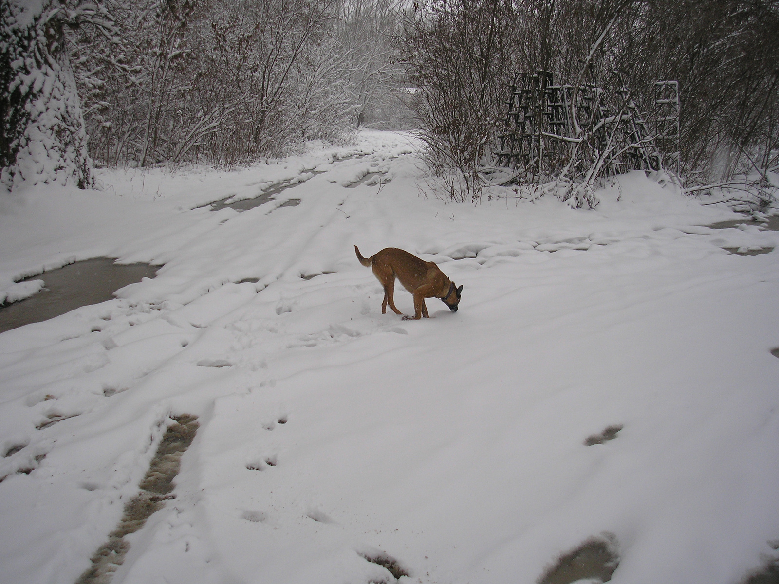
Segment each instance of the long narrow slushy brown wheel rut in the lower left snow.
[[149,472],[139,485],[139,494],[125,504],[119,525],[108,534],[108,541],[92,556],[92,567],[81,575],[76,584],[108,584],[130,549],[125,535],[138,531],[146,519],[163,507],[164,501],[175,498],[170,494],[175,487],[173,479],[181,468],[182,454],[192,444],[200,424],[197,416],[190,414],[173,419],[176,424],[165,431]]

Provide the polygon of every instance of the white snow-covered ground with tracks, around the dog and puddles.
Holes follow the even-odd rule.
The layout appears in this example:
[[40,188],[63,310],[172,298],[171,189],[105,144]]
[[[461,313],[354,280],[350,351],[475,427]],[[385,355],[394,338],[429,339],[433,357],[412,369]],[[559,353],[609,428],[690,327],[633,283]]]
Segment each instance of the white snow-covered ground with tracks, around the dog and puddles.
[[[401,582],[535,582],[601,533],[615,584],[737,584],[777,554],[779,251],[723,248],[779,233],[701,227],[733,214],[638,172],[594,211],[446,204],[413,151],[372,132],[0,202],[0,294],[73,259],[164,264],[0,334],[0,582],[75,582],[180,414],[200,427],[176,498],[116,584],[391,582],[379,552]],[[382,315],[355,244],[438,263],[460,311]]]

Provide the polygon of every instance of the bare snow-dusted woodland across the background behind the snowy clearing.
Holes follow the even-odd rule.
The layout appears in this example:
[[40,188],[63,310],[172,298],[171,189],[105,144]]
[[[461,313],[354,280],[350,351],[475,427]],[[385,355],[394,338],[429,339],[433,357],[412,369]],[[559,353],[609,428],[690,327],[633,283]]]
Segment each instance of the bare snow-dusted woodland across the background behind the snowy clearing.
[[[765,178],[779,143],[777,30],[776,0],[13,0],[0,30],[3,181],[15,184],[36,124],[54,142],[83,135],[59,165],[80,168],[83,186],[86,156],[231,167],[360,125],[416,130],[435,172],[489,164],[514,73],[544,70],[561,83],[619,78],[644,109],[655,81],[674,79],[688,184]],[[50,107],[63,98],[30,81],[41,72],[80,108]],[[57,109],[75,121],[36,118]]]

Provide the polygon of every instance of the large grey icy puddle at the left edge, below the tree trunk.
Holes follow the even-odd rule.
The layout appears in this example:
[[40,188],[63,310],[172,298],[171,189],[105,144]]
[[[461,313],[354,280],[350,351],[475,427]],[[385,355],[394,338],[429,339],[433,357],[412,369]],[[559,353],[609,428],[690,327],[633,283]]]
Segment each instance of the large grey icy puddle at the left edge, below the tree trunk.
[[0,332],[64,315],[87,304],[114,298],[113,293],[142,278],[153,278],[160,266],[115,264],[111,258],[86,259],[22,280],[43,280],[45,287],[22,301],[0,307]]

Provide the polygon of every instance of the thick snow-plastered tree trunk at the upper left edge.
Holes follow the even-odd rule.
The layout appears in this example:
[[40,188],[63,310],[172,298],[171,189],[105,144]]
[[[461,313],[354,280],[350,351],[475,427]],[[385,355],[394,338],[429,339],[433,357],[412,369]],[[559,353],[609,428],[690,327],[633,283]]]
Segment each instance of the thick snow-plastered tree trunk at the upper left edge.
[[92,161],[58,0],[0,8],[0,183],[92,188]]

